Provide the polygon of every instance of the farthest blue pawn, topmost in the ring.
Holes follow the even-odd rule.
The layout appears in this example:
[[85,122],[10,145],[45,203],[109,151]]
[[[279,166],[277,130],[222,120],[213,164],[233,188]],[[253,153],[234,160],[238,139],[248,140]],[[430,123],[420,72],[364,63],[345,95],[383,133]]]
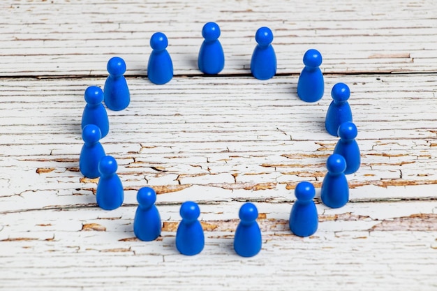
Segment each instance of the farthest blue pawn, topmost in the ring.
[[205,38],[200,46],[198,66],[205,74],[218,74],[225,66],[225,54],[221,47],[220,27],[215,22],[208,22],[203,26],[202,36]]

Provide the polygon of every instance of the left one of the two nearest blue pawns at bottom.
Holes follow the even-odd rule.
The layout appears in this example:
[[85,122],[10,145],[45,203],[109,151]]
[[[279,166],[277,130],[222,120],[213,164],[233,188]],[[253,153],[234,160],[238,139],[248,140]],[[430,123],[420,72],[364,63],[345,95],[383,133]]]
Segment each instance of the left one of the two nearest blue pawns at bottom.
[[177,251],[183,255],[197,255],[205,246],[202,225],[198,221],[199,206],[192,201],[184,202],[179,213],[182,216],[182,221],[176,232]]

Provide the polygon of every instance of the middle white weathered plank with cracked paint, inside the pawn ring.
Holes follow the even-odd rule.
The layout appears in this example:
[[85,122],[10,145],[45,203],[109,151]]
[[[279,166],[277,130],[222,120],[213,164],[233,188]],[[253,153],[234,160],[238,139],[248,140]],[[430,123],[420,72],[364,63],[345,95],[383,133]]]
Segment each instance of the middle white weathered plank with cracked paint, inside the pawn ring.
[[[293,200],[299,181],[318,189],[323,181],[337,140],[323,128],[329,88],[342,81],[352,91],[362,151],[360,171],[348,176],[351,200],[434,200],[436,80],[327,75],[325,97],[310,104],[285,76],[177,77],[164,86],[132,77],[131,105],[108,112],[102,144],[117,158],[128,204],[145,185],[177,203]],[[0,80],[7,92],[0,94],[1,211],[95,204],[97,181],[83,179],[78,158],[82,94],[99,82]]]

